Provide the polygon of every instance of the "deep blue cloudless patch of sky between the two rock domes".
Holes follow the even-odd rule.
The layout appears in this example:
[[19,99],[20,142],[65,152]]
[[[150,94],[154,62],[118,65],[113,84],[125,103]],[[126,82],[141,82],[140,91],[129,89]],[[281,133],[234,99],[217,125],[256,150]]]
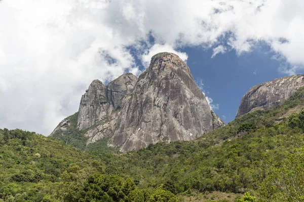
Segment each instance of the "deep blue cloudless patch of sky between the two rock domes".
[[218,54],[211,58],[212,50],[185,48],[188,54],[187,65],[196,81],[202,80],[212,104],[218,104],[215,113],[224,122],[234,120],[242,96],[250,87],[287,76],[280,73],[281,61],[272,59],[267,47],[255,49],[240,56],[235,51]]

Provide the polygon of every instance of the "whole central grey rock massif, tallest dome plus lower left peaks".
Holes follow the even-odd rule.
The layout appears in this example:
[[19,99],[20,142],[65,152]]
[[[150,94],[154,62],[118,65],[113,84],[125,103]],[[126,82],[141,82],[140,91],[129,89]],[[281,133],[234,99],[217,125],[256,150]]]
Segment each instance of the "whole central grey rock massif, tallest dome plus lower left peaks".
[[[70,136],[70,122],[64,119],[51,136]],[[87,145],[106,139],[109,146],[128,151],[192,140],[221,126],[188,66],[175,54],[159,53],[138,79],[128,73],[107,86],[94,80],[82,96],[72,130],[79,130]]]

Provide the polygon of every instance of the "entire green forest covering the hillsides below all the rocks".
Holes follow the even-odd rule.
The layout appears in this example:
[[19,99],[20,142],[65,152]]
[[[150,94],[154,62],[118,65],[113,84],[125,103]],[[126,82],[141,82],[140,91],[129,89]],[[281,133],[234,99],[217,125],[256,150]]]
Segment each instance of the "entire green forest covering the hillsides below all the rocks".
[[79,146],[72,127],[63,141],[0,130],[0,201],[304,201],[303,106],[300,88],[196,140],[127,154]]

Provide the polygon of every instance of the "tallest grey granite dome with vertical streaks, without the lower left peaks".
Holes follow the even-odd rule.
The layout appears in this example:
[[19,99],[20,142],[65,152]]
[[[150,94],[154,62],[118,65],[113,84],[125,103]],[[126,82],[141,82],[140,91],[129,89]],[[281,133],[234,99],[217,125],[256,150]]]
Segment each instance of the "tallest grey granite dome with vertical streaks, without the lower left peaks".
[[211,109],[187,65],[175,54],[151,59],[124,99],[110,145],[134,150],[161,141],[192,140],[224,123]]

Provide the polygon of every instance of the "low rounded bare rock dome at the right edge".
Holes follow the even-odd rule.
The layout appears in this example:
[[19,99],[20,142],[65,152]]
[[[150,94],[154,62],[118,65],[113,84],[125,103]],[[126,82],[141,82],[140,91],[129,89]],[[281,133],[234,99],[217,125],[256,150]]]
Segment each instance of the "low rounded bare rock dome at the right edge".
[[236,117],[280,105],[304,85],[303,79],[304,75],[292,75],[253,86],[242,97]]

